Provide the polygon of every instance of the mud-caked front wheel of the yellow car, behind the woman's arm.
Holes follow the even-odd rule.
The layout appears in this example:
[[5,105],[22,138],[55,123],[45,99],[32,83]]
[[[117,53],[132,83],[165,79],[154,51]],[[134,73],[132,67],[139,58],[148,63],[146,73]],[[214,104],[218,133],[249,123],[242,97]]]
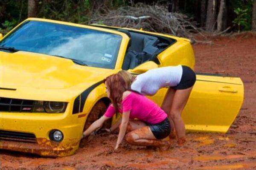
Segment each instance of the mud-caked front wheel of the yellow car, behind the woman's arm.
[[[96,121],[101,116],[103,116],[106,110],[107,110],[107,106],[103,101],[97,102],[93,106],[92,110],[90,111],[86,119],[86,122],[84,124],[84,130],[86,130],[94,121]],[[109,128],[109,127],[111,127],[111,119],[107,120],[102,126],[102,128]]]

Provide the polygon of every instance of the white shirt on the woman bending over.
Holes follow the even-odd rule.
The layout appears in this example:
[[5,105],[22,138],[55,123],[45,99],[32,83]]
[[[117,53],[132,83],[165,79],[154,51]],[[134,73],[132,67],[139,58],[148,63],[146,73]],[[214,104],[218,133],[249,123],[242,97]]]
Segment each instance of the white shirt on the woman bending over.
[[160,88],[173,87],[180,83],[182,66],[169,66],[149,70],[136,77],[131,89],[143,95],[152,96]]

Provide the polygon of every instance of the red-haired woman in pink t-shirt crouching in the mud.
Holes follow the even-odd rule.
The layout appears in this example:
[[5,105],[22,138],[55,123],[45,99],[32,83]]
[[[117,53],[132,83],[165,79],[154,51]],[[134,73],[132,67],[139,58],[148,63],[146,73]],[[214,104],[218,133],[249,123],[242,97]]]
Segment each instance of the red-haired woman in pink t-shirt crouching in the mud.
[[[84,131],[83,137],[102,127],[106,120],[116,112],[120,112],[122,119],[119,120],[121,125],[115,149],[119,147],[124,137],[128,143],[134,145],[156,147],[169,145],[167,141],[158,140],[169,136],[171,131],[167,114],[145,96],[127,91],[128,84],[119,74],[113,74],[105,79],[106,92],[112,104],[100,119]],[[119,124],[117,122],[113,125],[110,131],[115,130]]]

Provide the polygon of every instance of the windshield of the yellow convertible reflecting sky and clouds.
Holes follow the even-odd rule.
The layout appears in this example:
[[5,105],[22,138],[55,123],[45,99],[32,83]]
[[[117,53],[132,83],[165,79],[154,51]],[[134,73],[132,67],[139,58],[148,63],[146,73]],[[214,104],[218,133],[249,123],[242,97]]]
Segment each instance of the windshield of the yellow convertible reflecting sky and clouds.
[[121,40],[122,36],[108,32],[27,21],[0,42],[0,49],[53,55],[82,65],[113,69]]

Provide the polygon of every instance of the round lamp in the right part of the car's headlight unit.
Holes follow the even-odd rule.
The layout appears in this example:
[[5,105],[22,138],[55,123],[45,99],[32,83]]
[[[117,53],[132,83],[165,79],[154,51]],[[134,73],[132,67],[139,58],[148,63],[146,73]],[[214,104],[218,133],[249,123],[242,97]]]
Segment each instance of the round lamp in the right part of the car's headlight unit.
[[67,103],[65,102],[44,102],[44,110],[47,113],[63,113],[66,107]]

